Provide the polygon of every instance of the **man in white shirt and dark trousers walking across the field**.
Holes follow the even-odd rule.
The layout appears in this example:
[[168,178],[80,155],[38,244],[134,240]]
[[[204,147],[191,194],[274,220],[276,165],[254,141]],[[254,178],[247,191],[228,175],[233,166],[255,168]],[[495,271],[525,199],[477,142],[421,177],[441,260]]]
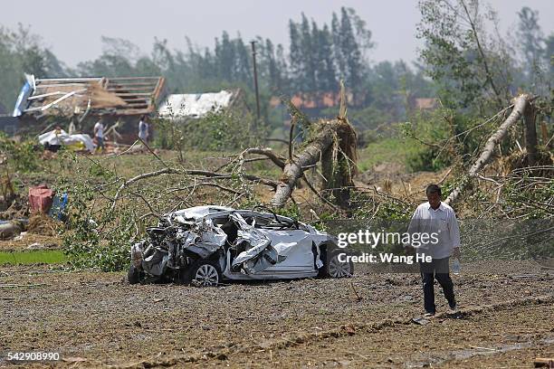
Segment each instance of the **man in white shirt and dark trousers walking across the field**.
[[[444,291],[444,297],[452,310],[457,310],[454,298],[454,283],[450,278],[449,264],[451,256],[460,258],[460,229],[452,207],[443,203],[441,187],[428,185],[426,189],[427,202],[417,206],[412,216],[408,232],[419,233],[428,241],[421,242],[416,247],[418,254],[431,256],[430,262],[421,262],[420,271],[423,279],[425,317],[435,315],[435,288],[436,279]],[[420,239],[421,240],[421,239]]]

